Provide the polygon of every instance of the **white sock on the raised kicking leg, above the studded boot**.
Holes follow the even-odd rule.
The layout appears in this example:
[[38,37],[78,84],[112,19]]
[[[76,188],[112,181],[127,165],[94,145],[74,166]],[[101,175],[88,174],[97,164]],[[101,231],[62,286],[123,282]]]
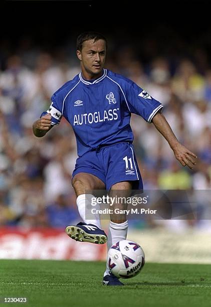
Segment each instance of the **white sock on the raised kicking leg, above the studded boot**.
[[[82,218],[82,220],[86,223],[86,224],[94,224],[97,227],[101,228],[101,224],[100,224],[100,214],[96,213],[93,214],[93,217],[95,218],[94,220],[88,220],[86,219],[86,214],[91,214],[90,208],[92,207],[91,204],[91,199],[94,196],[91,194],[81,194],[77,197],[76,200],[76,204],[78,206],[78,212]],[[95,198],[95,197],[94,197]],[[88,209],[89,208],[89,209]],[[100,206],[99,204],[97,204],[96,206],[93,206],[93,208],[96,208],[97,210],[100,210]]]

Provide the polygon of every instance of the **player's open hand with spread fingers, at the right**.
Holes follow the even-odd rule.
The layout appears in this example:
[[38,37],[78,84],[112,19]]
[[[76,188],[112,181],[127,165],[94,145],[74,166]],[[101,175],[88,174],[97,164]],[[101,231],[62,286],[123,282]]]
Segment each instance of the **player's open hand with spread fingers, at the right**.
[[183,167],[188,166],[188,168],[192,170],[193,166],[196,165],[195,159],[197,158],[197,156],[180,143],[178,143],[172,149],[175,158],[181,163],[181,165]]

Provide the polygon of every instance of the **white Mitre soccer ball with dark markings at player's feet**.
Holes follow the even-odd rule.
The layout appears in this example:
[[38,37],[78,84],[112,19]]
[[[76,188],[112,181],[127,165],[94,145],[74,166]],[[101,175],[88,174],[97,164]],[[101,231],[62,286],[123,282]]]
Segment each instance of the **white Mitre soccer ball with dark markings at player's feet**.
[[136,242],[122,240],[112,245],[108,251],[107,265],[118,278],[136,276],[144,263],[144,251]]

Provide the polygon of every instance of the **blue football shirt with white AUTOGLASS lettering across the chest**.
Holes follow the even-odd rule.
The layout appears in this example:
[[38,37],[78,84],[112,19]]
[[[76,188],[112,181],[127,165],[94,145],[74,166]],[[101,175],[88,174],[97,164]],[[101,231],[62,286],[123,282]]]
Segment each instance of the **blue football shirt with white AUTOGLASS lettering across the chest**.
[[132,143],[131,113],[150,123],[163,107],[133,81],[107,69],[94,81],[78,74],[58,89],[51,101],[47,112],[52,115],[52,125],[58,125],[62,116],[68,120],[79,157],[102,144]]

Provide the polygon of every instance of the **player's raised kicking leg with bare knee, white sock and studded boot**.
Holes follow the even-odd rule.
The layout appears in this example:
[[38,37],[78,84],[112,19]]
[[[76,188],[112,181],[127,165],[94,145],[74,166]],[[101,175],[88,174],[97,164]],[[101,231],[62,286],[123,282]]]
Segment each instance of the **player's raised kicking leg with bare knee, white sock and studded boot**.
[[92,220],[86,218],[86,208],[91,206],[91,199],[94,197],[92,194],[86,194],[86,191],[92,193],[93,190],[104,190],[104,183],[94,175],[79,173],[74,176],[72,184],[77,195],[76,202],[83,222],[67,226],[66,233],[76,241],[96,244],[106,243],[107,236],[101,229],[100,214],[96,213]]

